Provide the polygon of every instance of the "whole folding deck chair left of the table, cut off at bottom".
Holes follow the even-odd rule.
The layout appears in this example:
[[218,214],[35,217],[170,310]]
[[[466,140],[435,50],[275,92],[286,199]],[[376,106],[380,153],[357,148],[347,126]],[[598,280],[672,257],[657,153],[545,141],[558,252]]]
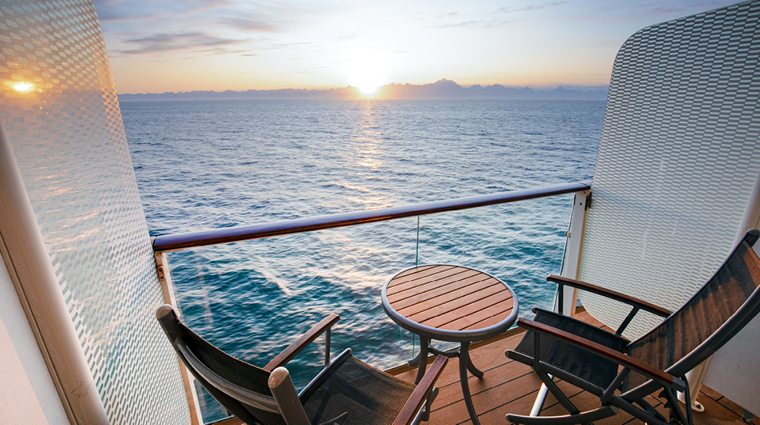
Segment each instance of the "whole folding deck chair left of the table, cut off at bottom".
[[[200,384],[249,425],[417,424],[429,416],[429,406],[438,394],[435,381],[448,361],[438,356],[416,387],[358,360],[350,348],[330,362],[330,328],[340,319],[331,314],[258,368],[205,341],[169,305],[159,307],[156,318]],[[296,393],[283,365],[322,333],[327,338],[326,366]]]

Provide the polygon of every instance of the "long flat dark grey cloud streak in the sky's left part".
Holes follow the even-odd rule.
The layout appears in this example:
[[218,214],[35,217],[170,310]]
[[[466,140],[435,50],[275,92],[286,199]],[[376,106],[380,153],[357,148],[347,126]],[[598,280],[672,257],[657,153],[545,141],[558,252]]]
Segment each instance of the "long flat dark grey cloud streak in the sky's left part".
[[[184,32],[153,34],[146,37],[125,40],[126,44],[134,45],[132,49],[121,50],[125,54],[143,54],[168,52],[176,50],[199,50],[202,52],[214,51],[216,54],[229,53],[223,46],[240,43],[244,40],[216,37],[206,32]],[[204,49],[215,47],[216,49]]]

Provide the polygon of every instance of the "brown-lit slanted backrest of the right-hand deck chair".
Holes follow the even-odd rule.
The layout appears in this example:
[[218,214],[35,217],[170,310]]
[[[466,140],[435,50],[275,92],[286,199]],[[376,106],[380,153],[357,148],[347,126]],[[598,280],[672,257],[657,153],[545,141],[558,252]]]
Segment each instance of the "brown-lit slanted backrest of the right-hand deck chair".
[[[631,342],[628,354],[677,376],[702,363],[760,313],[760,258],[752,229],[713,277],[659,326]],[[627,387],[646,380],[631,376]]]

